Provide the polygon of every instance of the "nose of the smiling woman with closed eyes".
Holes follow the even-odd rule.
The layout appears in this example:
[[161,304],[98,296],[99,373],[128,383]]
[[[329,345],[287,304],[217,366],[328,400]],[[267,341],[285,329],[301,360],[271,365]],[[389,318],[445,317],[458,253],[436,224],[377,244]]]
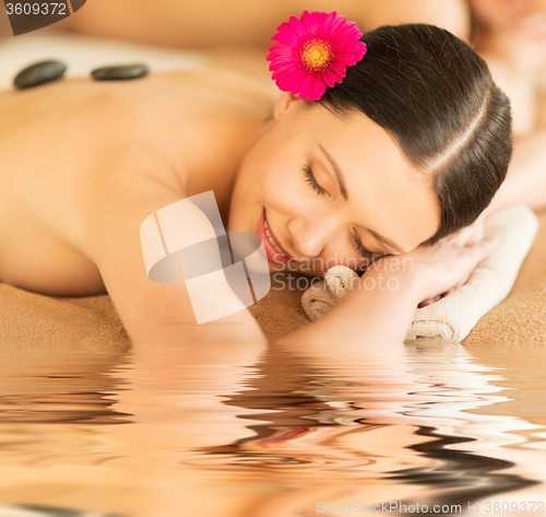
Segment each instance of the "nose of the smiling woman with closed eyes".
[[332,216],[297,216],[288,221],[294,249],[304,257],[317,257],[335,235],[337,222]]

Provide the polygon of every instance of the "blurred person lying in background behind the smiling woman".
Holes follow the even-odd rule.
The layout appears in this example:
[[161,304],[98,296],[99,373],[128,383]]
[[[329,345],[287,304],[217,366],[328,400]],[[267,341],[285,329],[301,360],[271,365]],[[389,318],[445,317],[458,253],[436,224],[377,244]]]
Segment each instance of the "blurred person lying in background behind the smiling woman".
[[212,67],[270,78],[269,35],[306,9],[341,12],[363,32],[387,24],[430,23],[468,43],[512,105],[514,156],[505,189],[487,210],[510,204],[513,198],[506,191],[517,192],[534,210],[544,208],[546,95],[541,91],[546,84],[546,0],[88,0],[62,25],[86,35],[206,50]]

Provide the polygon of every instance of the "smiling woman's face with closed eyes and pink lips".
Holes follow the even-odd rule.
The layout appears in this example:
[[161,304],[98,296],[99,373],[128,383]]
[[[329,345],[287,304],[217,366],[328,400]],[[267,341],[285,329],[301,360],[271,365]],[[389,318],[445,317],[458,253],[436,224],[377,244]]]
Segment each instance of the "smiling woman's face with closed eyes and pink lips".
[[229,231],[262,235],[272,269],[318,277],[335,265],[364,271],[430,238],[436,193],[387,131],[359,111],[341,117],[304,103],[282,94],[240,162]]

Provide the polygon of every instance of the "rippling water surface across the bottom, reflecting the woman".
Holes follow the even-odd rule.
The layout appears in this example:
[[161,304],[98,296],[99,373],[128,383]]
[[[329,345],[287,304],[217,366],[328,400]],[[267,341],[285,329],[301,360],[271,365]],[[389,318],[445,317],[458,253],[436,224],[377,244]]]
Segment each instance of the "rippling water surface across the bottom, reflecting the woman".
[[546,350],[379,352],[2,346],[0,517],[546,513]]

